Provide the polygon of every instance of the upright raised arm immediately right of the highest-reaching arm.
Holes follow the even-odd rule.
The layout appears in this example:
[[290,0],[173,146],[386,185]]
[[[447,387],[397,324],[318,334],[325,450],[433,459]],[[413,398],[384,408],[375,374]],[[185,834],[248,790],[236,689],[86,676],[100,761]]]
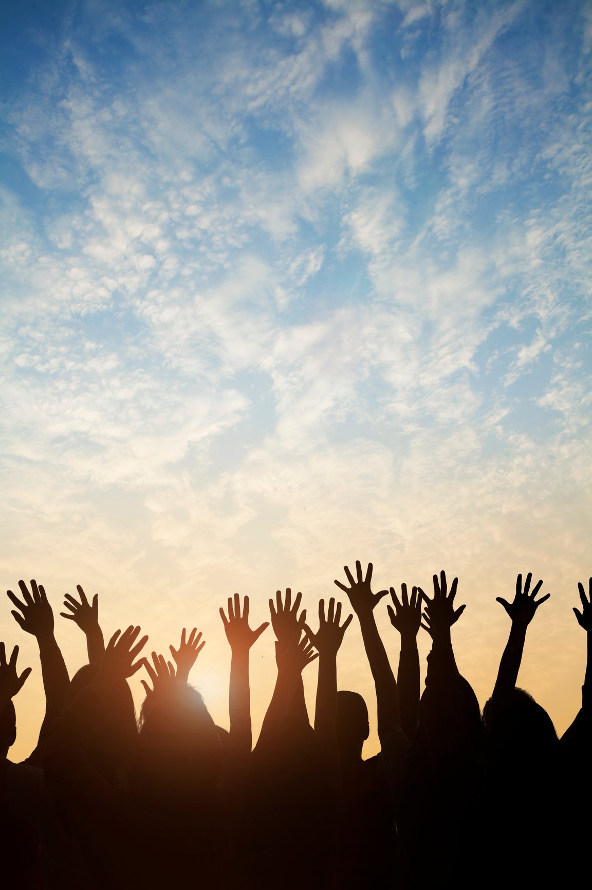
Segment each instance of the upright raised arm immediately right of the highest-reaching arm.
[[401,703],[401,726],[403,732],[412,739],[418,728],[419,716],[419,653],[418,630],[421,624],[421,595],[418,588],[411,589],[411,599],[407,594],[407,585],[401,584],[401,602],[394,588],[390,588],[393,599],[392,606],[387,606],[388,615],[393,627],[401,635],[401,651],[399,654],[399,671],[397,687]]

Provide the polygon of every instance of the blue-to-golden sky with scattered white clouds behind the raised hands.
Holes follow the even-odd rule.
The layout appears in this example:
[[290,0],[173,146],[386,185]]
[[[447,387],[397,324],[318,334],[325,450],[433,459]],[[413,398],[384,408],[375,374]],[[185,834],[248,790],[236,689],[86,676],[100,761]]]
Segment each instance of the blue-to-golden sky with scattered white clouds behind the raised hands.
[[[519,684],[572,722],[591,50],[578,0],[4,0],[0,588],[45,585],[70,675],[85,641],[58,613],[82,584],[107,637],[140,624],[166,652],[203,631],[191,682],[228,726],[218,608],[248,594],[257,625],[292,587],[313,619],[360,559],[376,590],[458,575],[453,643],[483,706],[495,598],[531,571],[551,597]],[[10,611],[0,638],[34,668],[18,759],[44,700]],[[251,665],[256,733],[271,629]],[[338,683],[369,703],[370,756],[355,621]]]

